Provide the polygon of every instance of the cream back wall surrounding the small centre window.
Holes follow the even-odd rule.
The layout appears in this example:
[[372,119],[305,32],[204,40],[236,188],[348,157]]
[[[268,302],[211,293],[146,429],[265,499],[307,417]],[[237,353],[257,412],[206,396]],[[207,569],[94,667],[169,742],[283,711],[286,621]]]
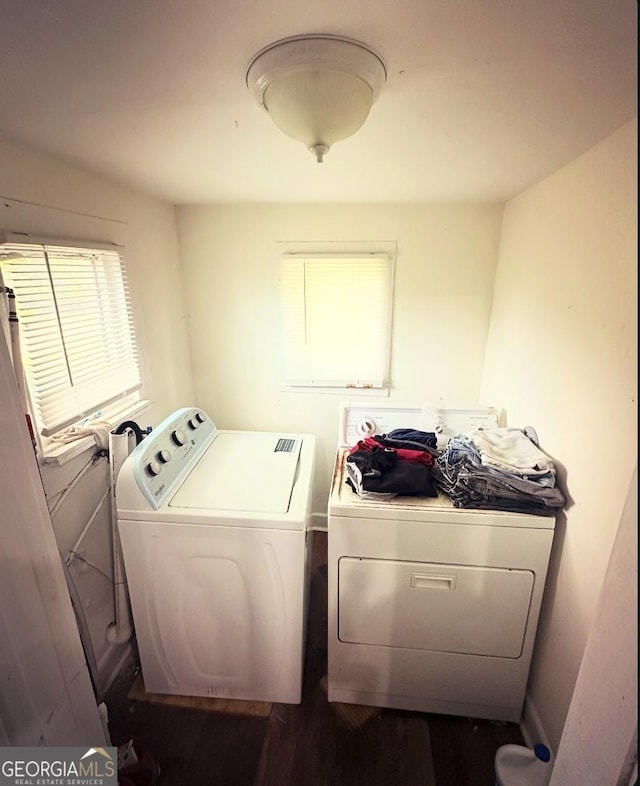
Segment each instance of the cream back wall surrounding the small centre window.
[[[220,428],[316,434],[316,513],[326,513],[344,397],[282,390],[278,241],[397,241],[391,397],[477,403],[501,206],[189,206],[177,216],[197,402]],[[354,352],[366,307],[336,314]]]

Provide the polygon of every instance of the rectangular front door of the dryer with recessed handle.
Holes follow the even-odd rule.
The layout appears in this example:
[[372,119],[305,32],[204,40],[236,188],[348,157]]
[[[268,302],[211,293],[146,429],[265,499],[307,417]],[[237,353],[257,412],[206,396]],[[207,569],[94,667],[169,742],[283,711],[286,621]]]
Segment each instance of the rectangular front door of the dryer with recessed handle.
[[519,658],[533,584],[528,570],[343,557],[338,638]]

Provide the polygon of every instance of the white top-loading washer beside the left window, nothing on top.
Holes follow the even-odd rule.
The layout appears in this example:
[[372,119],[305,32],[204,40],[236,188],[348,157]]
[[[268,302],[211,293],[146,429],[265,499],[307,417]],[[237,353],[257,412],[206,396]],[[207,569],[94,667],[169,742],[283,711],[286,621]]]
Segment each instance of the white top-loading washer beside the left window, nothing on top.
[[315,437],[164,420],[116,484],[145,688],[299,703]]

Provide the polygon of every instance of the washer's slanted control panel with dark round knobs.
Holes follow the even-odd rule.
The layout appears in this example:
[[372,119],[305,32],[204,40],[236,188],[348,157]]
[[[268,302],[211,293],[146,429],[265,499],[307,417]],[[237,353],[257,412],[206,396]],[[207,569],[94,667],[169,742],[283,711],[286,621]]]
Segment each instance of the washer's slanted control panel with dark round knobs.
[[132,471],[144,499],[157,510],[210,445],[215,431],[201,409],[179,409],[136,446],[119,477]]

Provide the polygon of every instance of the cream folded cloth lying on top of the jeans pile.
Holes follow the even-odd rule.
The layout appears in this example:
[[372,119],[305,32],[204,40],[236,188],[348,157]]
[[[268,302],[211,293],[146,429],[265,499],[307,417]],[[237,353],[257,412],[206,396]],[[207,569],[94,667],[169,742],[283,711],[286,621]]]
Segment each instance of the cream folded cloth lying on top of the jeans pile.
[[467,433],[486,467],[514,475],[555,473],[553,461],[517,428],[482,429]]

